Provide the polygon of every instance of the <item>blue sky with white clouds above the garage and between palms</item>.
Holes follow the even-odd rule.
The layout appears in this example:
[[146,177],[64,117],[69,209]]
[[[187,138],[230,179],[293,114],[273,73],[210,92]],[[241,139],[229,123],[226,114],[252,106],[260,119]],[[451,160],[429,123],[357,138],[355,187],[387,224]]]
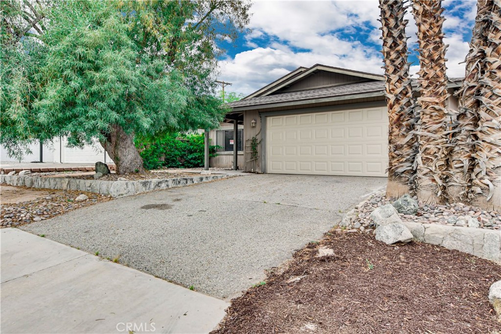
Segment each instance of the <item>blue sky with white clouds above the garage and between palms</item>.
[[[444,23],[447,75],[462,77],[459,64],[468,52],[476,1],[446,0]],[[367,1],[259,1],[249,28],[221,57],[219,80],[232,83],[227,91],[247,95],[300,67],[315,64],[382,74],[381,24],[378,2]],[[414,19],[407,15],[411,73],[419,63]]]

